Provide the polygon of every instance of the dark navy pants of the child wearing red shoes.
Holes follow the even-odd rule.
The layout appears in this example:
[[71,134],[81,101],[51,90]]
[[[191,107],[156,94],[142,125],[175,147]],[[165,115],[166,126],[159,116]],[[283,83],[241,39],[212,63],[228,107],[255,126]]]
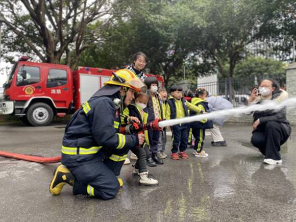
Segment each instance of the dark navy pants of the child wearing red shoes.
[[187,148],[188,141],[188,125],[175,125],[172,130],[172,149],[171,153],[184,152]]

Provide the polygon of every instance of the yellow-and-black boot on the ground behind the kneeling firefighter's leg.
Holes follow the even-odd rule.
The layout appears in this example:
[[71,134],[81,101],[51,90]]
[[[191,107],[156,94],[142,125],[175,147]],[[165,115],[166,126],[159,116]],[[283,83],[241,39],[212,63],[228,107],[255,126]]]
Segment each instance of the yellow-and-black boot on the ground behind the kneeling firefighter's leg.
[[70,170],[64,165],[59,165],[54,172],[54,179],[52,180],[50,185],[51,194],[59,195],[64,185],[67,183],[73,186],[74,180],[75,178],[71,174]]

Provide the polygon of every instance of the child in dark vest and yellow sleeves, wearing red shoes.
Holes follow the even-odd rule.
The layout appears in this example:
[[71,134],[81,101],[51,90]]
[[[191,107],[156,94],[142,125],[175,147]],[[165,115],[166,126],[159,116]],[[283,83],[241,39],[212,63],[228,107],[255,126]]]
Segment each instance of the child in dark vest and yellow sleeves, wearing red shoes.
[[[188,116],[188,109],[196,113],[203,113],[200,107],[196,107],[185,100],[182,95],[182,86],[174,85],[170,88],[170,98],[166,106],[166,119],[183,118]],[[189,159],[185,153],[188,141],[188,124],[179,124],[171,127],[173,141],[171,149],[171,159]],[[179,153],[177,154],[179,150]]]

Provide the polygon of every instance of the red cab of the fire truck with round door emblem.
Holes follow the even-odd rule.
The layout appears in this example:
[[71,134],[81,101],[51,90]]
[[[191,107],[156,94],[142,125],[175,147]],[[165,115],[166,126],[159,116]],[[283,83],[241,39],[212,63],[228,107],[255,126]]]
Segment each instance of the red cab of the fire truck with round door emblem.
[[0,113],[14,114],[26,124],[46,126],[66,115],[73,103],[72,74],[66,65],[29,62],[22,57],[4,84]]

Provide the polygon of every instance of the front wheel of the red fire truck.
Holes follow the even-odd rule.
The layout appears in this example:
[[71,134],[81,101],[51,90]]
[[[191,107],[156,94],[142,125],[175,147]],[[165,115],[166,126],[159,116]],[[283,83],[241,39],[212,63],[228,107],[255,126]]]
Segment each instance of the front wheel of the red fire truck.
[[35,103],[29,107],[27,112],[28,121],[35,127],[47,126],[53,117],[52,108],[45,103]]

